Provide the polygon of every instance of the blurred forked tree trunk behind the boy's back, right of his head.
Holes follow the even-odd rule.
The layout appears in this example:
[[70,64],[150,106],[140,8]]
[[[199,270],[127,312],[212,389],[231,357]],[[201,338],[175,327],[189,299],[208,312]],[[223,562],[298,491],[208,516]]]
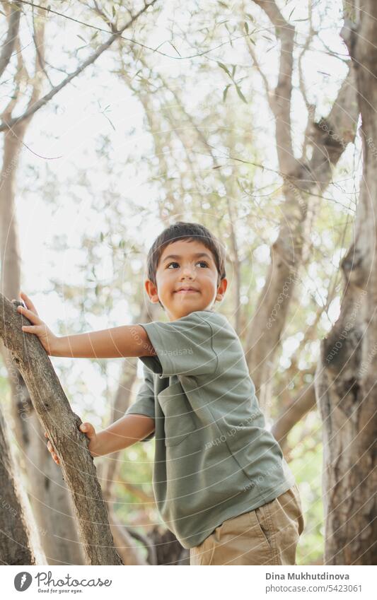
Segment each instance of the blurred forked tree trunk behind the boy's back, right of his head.
[[[332,168],[347,143],[354,140],[359,109],[354,92],[354,72],[350,69],[326,119],[315,123],[315,107],[309,107],[306,141],[313,146],[311,160],[307,162],[305,156],[299,160],[294,158],[290,127],[294,27],[284,19],[274,0],[254,0],[254,3],[265,11],[281,43],[278,83],[269,105],[276,124],[279,171],[284,182],[283,218],[279,236],[271,247],[271,264],[245,344],[255,391],[260,405],[268,413],[275,357],[298,281],[308,224],[317,209],[315,204],[318,206],[317,196],[311,194],[323,194],[330,183]],[[251,52],[256,61],[255,53]]]

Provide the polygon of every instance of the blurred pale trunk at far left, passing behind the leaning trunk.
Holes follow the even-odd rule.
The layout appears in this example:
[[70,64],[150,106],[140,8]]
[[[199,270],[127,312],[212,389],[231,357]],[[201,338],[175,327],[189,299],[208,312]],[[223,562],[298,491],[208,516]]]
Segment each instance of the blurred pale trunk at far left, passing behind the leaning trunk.
[[[23,148],[28,121],[4,137],[4,158],[1,170],[1,275],[3,293],[17,298],[20,291],[21,256],[18,248],[18,226],[15,218],[16,172]],[[48,564],[83,564],[83,555],[77,539],[69,495],[62,472],[55,468],[47,452],[45,437],[35,416],[28,389],[20,373],[12,365],[8,351],[1,344],[1,355],[8,371],[11,386],[11,419],[21,453],[21,466],[28,481],[28,493],[37,527],[44,532],[41,543]],[[25,463],[27,459],[28,463]]]

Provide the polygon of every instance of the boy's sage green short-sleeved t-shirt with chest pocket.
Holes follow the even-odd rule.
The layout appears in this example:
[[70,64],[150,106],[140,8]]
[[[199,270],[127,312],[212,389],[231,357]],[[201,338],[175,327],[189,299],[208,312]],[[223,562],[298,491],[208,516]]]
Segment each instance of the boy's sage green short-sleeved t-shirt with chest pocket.
[[198,310],[172,322],[139,323],[156,356],[126,414],[146,415],[156,437],[153,492],[184,548],[225,519],[271,502],[294,485],[265,428],[240,340],[228,319]]

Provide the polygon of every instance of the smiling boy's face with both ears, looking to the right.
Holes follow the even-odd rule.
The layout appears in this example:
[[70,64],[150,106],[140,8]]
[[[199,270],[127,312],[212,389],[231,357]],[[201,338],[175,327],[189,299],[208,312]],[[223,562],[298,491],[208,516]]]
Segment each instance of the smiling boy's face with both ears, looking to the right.
[[[169,321],[175,321],[195,310],[210,309],[216,300],[222,300],[228,282],[223,279],[217,286],[217,279],[211,250],[196,240],[179,240],[166,246],[161,254],[156,271],[157,286],[149,279],[144,285],[151,302],[160,300]],[[192,291],[179,291],[182,287],[192,288]]]

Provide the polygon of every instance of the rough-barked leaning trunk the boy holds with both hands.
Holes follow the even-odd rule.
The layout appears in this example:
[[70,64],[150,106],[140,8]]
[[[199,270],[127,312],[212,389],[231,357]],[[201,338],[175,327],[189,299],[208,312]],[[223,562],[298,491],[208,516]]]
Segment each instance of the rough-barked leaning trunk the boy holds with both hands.
[[81,419],[71,411],[40,341],[35,336],[23,334],[22,322],[28,323],[28,319],[21,317],[15,306],[1,294],[0,307],[0,336],[21,372],[35,413],[60,459],[64,481],[71,492],[86,564],[121,565],[93,458],[88,452],[88,440],[79,431]]

